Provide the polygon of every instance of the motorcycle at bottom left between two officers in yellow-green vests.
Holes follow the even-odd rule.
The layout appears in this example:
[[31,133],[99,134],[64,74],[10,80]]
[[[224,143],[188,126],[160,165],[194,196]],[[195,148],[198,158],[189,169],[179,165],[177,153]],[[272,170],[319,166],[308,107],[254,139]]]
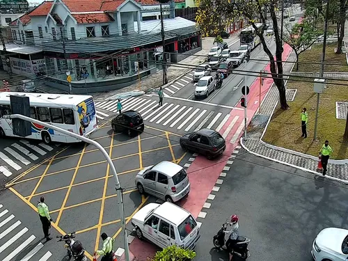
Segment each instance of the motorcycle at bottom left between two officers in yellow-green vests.
[[74,241],[75,232],[67,234],[65,236],[56,236],[59,240],[57,242],[65,242],[64,247],[67,248],[67,255],[70,258],[74,258],[76,261],[87,261],[85,255],[85,248],[82,246],[81,242]]

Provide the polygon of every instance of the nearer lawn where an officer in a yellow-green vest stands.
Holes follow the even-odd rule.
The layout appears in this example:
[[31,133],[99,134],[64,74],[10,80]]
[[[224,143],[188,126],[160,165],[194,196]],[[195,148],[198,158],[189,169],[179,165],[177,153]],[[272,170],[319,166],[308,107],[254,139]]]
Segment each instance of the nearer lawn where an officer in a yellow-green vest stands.
[[[299,78],[292,77],[292,79]],[[347,81],[340,83],[347,84]],[[336,119],[335,110],[335,102],[347,102],[347,86],[327,84],[324,93],[320,95],[317,128],[319,141],[313,141],[317,102],[317,94],[313,93],[313,84],[288,81],[287,88],[297,89],[295,99],[293,102],[288,102],[290,109],[287,111],[281,110],[279,106],[275,109],[263,141],[318,156],[320,148],[327,139],[333,148],[331,159],[348,159],[348,142],[344,142],[342,138],[345,133],[346,120]],[[307,139],[301,137],[301,109],[303,107],[306,107],[308,111]]]

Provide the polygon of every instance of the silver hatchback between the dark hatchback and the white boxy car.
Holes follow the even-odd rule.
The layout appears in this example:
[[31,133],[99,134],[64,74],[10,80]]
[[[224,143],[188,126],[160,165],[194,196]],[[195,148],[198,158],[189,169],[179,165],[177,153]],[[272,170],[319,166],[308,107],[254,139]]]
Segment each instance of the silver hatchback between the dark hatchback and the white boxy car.
[[139,171],[135,184],[139,193],[149,193],[168,202],[176,202],[190,191],[186,171],[171,161],[161,161]]

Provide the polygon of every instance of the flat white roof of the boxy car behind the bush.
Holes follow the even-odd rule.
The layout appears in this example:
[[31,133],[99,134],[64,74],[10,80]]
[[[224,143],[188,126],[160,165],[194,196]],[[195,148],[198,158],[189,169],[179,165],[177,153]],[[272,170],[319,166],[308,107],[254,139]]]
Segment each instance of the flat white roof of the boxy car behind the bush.
[[173,203],[165,202],[155,209],[154,214],[179,226],[191,213]]

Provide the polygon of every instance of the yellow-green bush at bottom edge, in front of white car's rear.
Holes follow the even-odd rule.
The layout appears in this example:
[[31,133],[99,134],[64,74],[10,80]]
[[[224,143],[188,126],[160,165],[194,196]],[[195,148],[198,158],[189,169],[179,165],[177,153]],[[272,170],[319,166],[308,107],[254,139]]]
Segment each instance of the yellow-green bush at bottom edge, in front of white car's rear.
[[178,246],[168,246],[164,250],[156,253],[155,258],[151,261],[190,261],[196,257],[196,253],[180,248]]

